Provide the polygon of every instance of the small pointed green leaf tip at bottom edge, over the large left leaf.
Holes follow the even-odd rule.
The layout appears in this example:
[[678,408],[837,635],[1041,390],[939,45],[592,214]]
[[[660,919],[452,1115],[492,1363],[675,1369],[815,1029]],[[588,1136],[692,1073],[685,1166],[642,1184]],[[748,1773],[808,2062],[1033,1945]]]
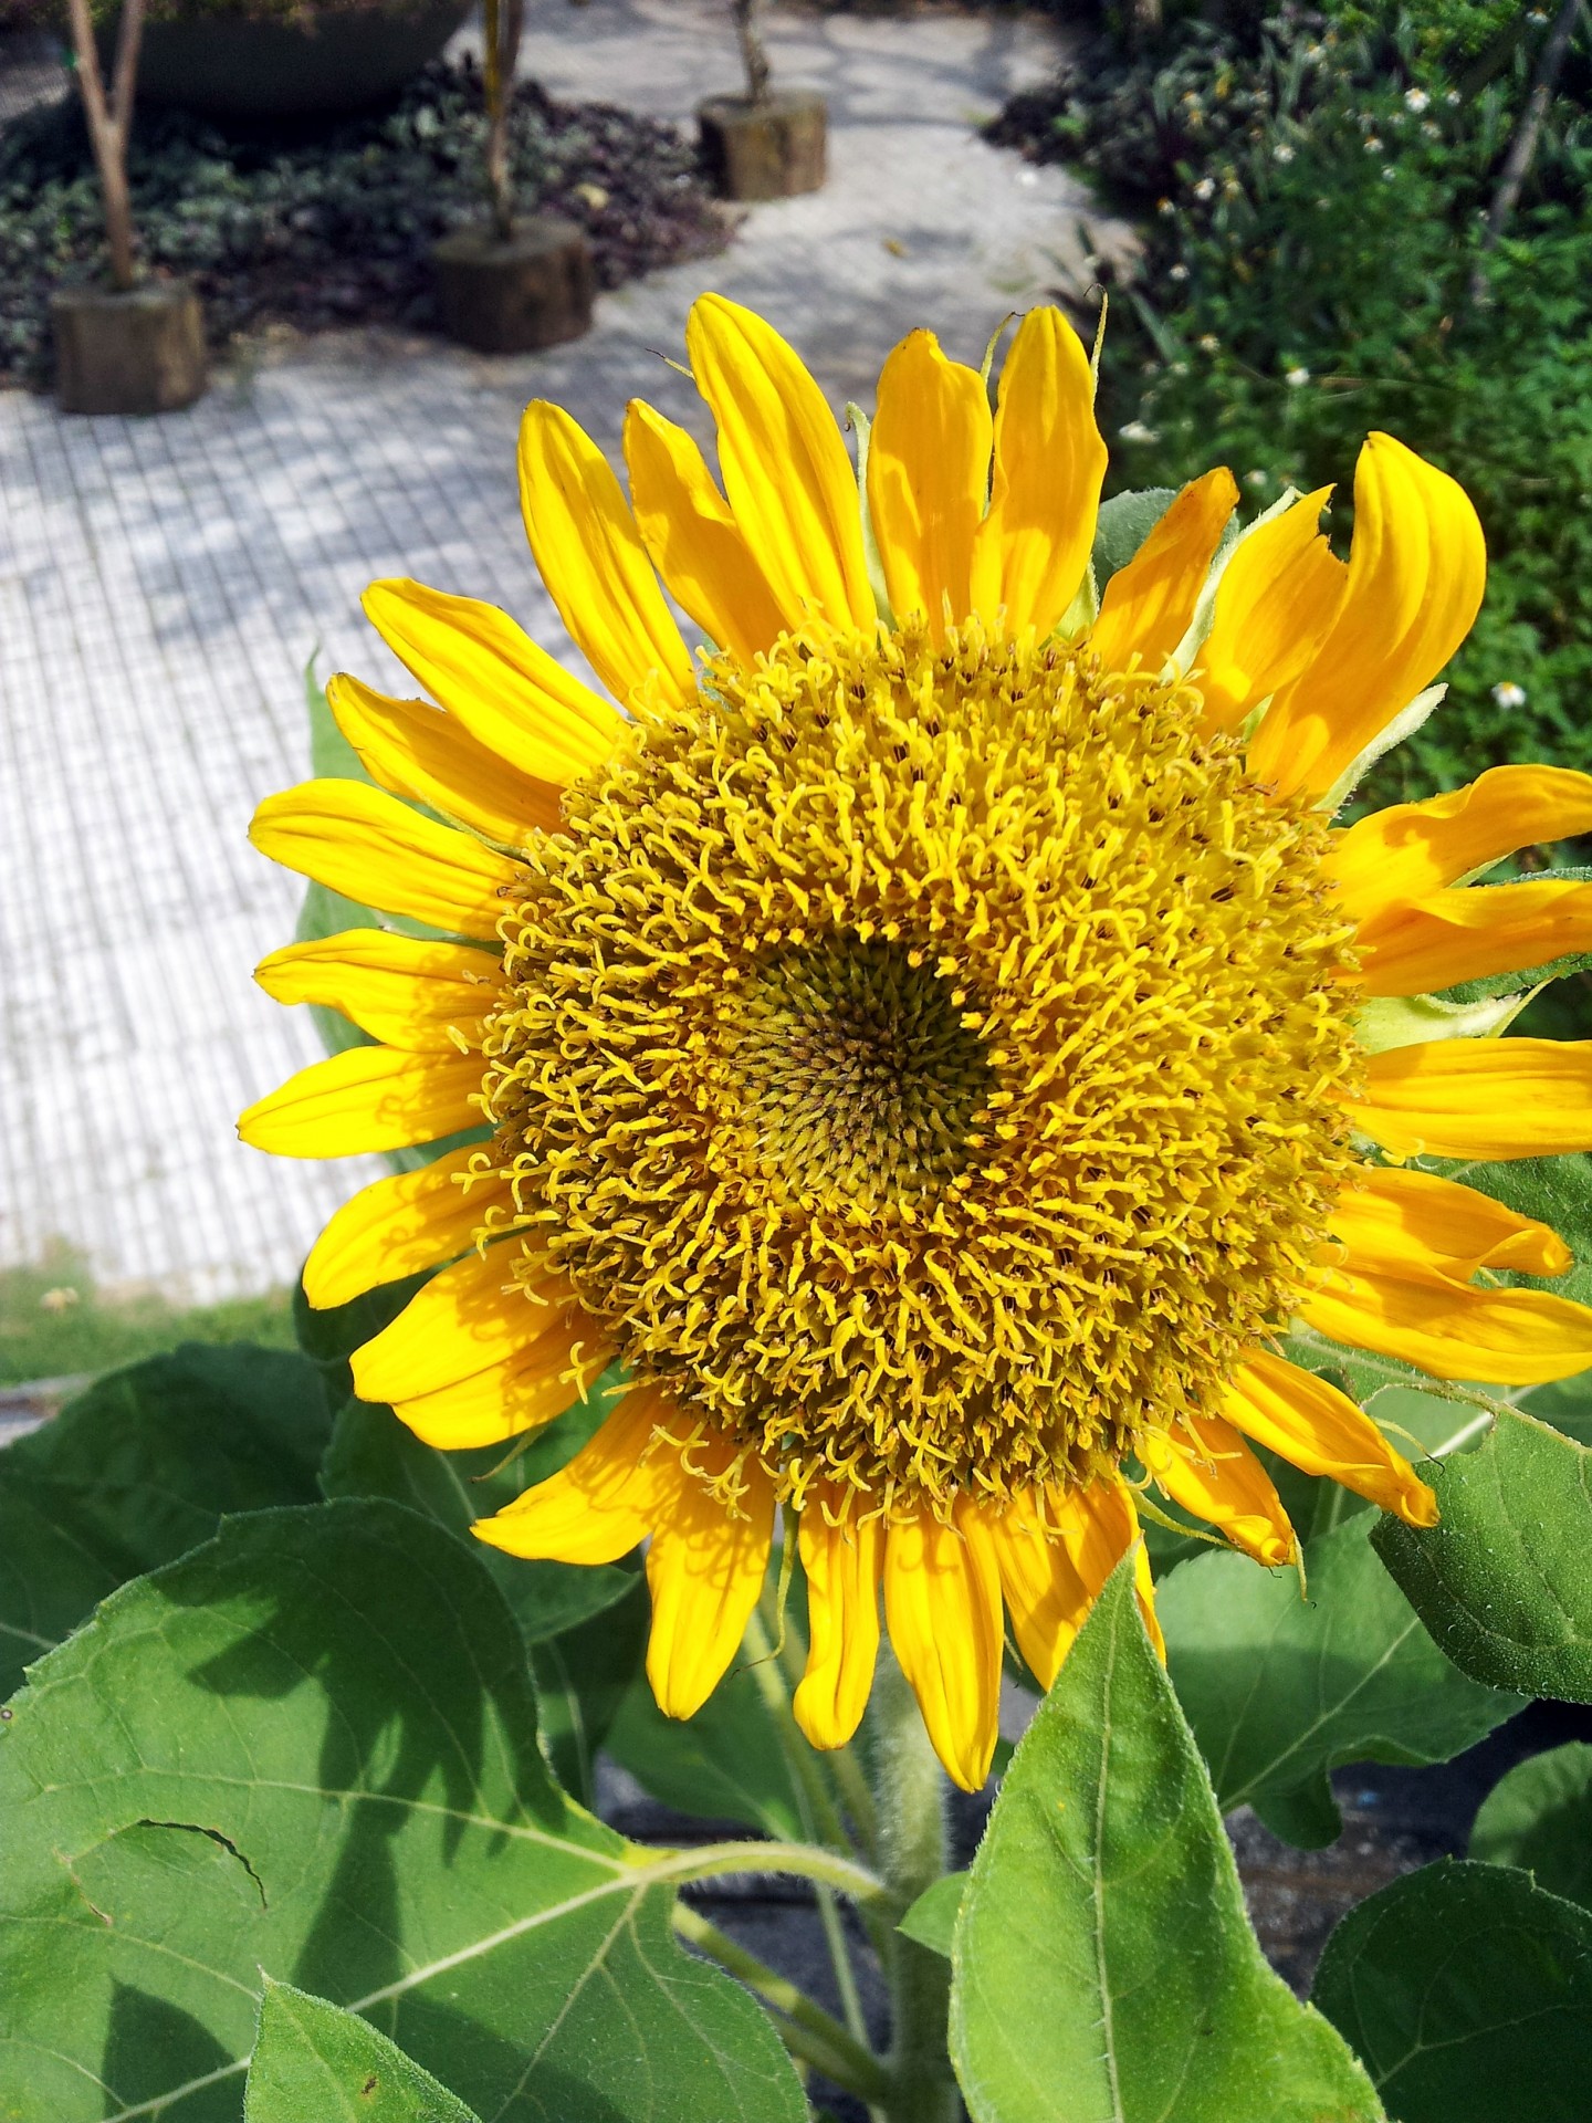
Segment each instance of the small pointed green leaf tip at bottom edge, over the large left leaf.
[[480,2123],[384,2034],[265,1979],[244,2123]]

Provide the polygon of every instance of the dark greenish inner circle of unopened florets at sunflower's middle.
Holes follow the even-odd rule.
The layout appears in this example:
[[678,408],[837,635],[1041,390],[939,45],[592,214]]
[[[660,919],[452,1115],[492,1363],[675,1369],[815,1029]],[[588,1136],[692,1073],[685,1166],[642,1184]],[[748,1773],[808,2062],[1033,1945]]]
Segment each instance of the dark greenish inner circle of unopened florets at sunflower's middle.
[[962,1172],[993,1089],[966,989],[904,943],[779,951],[730,1008],[747,1125],[771,1187],[868,1214]]

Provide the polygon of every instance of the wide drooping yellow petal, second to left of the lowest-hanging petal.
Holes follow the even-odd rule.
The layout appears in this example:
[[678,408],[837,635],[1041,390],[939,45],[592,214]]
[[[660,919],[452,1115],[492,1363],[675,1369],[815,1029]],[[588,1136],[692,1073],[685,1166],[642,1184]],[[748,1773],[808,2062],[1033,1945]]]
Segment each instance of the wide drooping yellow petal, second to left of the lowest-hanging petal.
[[694,1448],[690,1475],[647,1548],[652,1635],[647,1679],[664,1718],[694,1718],[741,1647],[758,1605],[775,1526],[775,1486],[743,1467],[737,1514],[700,1480],[722,1473],[734,1446]]

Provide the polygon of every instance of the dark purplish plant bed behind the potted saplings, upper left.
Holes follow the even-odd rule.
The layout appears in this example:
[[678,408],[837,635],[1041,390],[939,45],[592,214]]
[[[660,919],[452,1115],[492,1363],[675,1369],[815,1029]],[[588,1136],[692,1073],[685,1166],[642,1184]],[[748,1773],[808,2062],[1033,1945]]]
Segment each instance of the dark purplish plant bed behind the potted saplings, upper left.
[[[475,68],[442,62],[395,106],[331,127],[140,115],[129,180],[144,263],[193,282],[214,346],[263,323],[431,329],[431,244],[484,212],[484,125]],[[524,212],[577,223],[601,287],[724,242],[692,151],[654,119],[520,85],[512,155]],[[49,382],[51,289],[91,278],[102,242],[76,104],[15,119],[0,134],[0,378]]]

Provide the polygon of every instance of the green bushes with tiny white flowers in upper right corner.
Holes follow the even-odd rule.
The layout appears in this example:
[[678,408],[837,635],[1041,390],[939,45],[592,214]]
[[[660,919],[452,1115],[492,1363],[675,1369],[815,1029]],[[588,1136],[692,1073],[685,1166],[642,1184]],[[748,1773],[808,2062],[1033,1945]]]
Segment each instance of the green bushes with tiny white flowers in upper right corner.
[[[1102,36],[996,138],[1134,212],[1102,408],[1114,478],[1212,456],[1259,503],[1314,490],[1369,429],[1460,473],[1488,599],[1448,701],[1378,796],[1503,758],[1592,762],[1592,51],[1586,17],[1488,244],[1558,8],[1265,6]],[[1348,495],[1335,499],[1342,539]]]

